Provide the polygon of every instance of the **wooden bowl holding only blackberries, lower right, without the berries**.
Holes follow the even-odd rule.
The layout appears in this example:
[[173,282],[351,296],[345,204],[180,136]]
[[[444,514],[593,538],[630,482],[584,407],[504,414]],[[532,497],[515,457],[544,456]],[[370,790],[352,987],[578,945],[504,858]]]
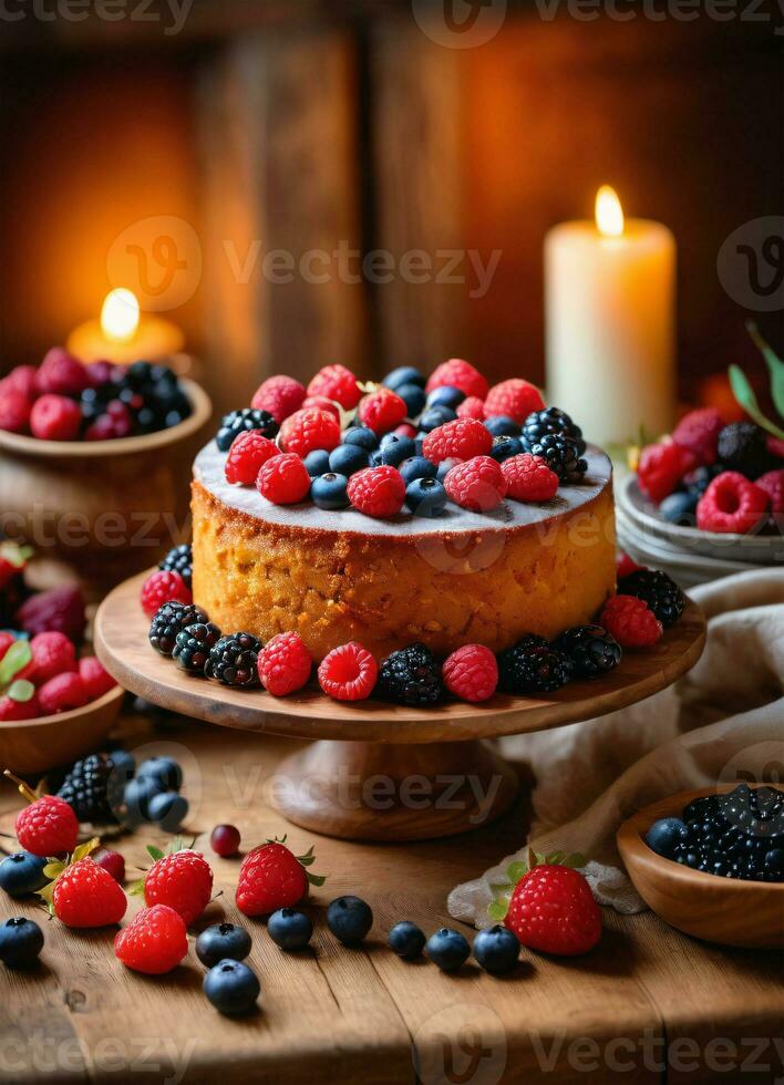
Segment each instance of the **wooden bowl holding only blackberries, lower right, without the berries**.
[[[716,787],[715,794],[735,785]],[[755,785],[751,785],[755,786]],[[784,946],[784,882],[737,881],[692,870],[652,851],[644,834],[660,817],[680,817],[693,798],[682,792],[653,803],[618,830],[618,850],[644,902],[671,927],[708,942],[749,948]]]

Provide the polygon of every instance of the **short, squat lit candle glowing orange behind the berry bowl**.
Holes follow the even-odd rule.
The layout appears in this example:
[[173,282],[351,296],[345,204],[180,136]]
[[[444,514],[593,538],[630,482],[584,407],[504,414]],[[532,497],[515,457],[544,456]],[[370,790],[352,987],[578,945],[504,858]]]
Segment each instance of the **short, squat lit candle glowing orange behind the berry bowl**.
[[87,320],[68,340],[69,351],[83,362],[144,360],[157,362],[182,351],[182,331],[162,317],[142,316],[131,290],[112,290],[103,303],[100,320]]

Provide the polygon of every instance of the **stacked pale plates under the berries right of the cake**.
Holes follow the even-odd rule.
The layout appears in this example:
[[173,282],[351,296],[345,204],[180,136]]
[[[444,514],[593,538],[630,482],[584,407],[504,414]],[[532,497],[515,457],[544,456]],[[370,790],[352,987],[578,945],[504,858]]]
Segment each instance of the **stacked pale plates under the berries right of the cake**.
[[784,537],[716,535],[669,524],[640,492],[636,475],[617,480],[618,545],[640,565],[663,569],[684,588],[761,566],[784,568]]

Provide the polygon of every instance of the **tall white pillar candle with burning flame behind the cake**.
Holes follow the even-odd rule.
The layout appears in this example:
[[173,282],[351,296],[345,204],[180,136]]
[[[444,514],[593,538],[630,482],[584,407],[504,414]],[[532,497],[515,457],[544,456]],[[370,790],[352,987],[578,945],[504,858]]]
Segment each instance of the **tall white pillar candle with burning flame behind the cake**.
[[545,241],[548,402],[597,444],[667,433],[674,414],[675,241],[623,219],[615,192],[596,221],[563,223]]

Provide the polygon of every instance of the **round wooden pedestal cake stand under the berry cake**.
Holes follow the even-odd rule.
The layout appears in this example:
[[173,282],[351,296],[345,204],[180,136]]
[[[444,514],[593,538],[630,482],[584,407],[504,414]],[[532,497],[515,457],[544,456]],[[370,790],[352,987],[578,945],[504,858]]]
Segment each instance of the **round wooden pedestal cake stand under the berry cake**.
[[317,740],[283,762],[270,802],[296,825],[347,839],[429,839],[487,824],[508,809],[518,784],[482,740],[636,704],[690,670],[705,642],[704,616],[689,601],[654,648],[626,654],[605,678],[540,699],[496,694],[481,705],[410,709],[341,703],[317,686],[276,699],[192,678],[158,655],[138,602],[145,579],[142,574],[120,585],[97,611],[94,645],[106,670],[138,696],[218,726]]

